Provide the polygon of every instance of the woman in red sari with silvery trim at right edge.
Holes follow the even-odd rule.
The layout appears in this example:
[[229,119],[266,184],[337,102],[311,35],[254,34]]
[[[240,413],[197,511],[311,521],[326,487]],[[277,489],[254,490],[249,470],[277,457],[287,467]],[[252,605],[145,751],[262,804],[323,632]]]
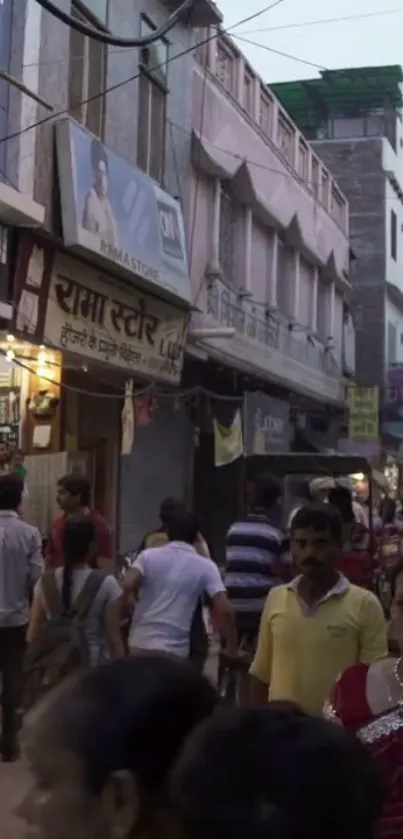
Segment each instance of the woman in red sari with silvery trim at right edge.
[[354,730],[379,764],[387,800],[378,836],[403,837],[403,561],[392,576],[391,637],[400,653],[349,667],[336,682],[329,708],[335,722]]

